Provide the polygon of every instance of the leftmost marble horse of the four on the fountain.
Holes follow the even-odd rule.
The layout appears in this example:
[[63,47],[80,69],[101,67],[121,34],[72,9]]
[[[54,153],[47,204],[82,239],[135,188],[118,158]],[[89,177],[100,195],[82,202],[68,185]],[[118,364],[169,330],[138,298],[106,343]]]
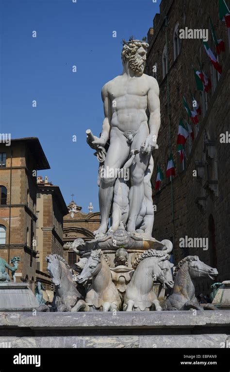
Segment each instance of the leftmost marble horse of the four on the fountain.
[[82,299],[82,295],[72,279],[70,267],[58,254],[50,254],[46,260],[47,271],[55,285],[56,292],[52,306],[56,307],[57,311],[71,311],[77,301]]

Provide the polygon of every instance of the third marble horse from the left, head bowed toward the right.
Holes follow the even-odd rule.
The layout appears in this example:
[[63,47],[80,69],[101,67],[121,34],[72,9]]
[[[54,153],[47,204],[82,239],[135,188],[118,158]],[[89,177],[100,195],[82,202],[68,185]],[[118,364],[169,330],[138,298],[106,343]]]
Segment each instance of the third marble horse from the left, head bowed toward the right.
[[160,281],[163,287],[173,287],[173,278],[167,251],[148,249],[132,264],[136,268],[127,285],[123,310],[149,311],[152,307],[161,311],[162,307],[153,291],[154,281]]

